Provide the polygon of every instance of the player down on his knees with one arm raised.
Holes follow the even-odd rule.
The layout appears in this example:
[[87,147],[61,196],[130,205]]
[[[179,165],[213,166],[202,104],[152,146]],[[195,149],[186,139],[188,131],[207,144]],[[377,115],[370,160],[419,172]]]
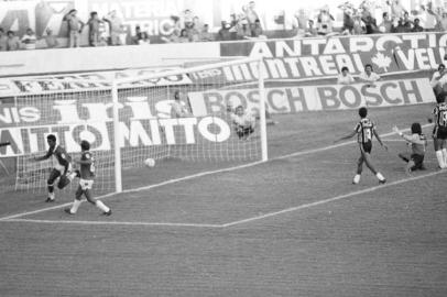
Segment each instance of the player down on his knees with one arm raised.
[[422,133],[422,128],[419,123],[413,123],[411,127],[412,134],[406,135],[402,133],[397,127],[393,127],[393,131],[396,132],[401,138],[408,142],[412,146],[412,153],[400,153],[399,157],[405,161],[406,167],[405,172],[407,174],[414,170],[424,170],[424,156],[425,150],[427,147],[427,139]]

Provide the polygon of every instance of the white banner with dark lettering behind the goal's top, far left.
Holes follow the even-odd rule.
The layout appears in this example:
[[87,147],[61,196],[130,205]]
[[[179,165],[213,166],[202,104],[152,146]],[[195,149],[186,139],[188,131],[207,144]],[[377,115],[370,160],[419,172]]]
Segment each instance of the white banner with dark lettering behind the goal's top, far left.
[[[55,76],[33,76],[33,77],[19,77],[19,78],[0,78],[0,98],[24,95],[43,95],[48,92],[61,91],[87,91],[110,89],[111,81],[118,78],[148,76],[168,70],[182,69],[177,68],[143,68],[143,69],[129,69],[121,72],[98,72],[98,73],[81,73],[69,75],[55,75]],[[64,81],[64,80],[78,80],[78,81]],[[87,80],[91,80],[87,81]],[[159,77],[154,79],[142,79],[132,82],[120,85],[126,88],[137,87],[154,87],[154,86],[176,86],[189,85],[192,80],[187,75],[174,75],[167,77]]]

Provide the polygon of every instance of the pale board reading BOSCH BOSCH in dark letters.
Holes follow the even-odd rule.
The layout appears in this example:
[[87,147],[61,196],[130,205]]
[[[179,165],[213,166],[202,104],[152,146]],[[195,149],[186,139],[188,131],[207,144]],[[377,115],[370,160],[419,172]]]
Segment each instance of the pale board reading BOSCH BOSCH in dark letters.
[[[368,107],[394,107],[435,102],[428,79],[380,81],[309,87],[266,88],[266,109],[271,113],[342,110]],[[255,89],[208,90],[189,92],[189,103],[196,117],[219,114],[227,106],[242,105],[259,113],[259,91]]]

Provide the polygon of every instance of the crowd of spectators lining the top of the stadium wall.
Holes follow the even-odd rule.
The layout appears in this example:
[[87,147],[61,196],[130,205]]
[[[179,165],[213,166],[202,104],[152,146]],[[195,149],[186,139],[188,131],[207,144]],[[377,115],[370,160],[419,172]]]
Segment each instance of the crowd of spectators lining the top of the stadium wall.
[[[324,7],[312,15],[305,9],[299,9],[292,16],[292,30],[290,36],[331,36],[331,35],[356,35],[356,34],[382,34],[382,33],[405,33],[423,31],[447,31],[447,11],[440,7],[433,7],[428,1],[425,6],[407,11],[400,0],[388,0],[385,6],[377,6],[374,0],[363,0],[360,6],[351,2],[344,2],[338,6],[342,14],[341,28],[335,26],[334,12],[329,7]],[[379,15],[379,18],[378,18]],[[282,12],[275,16],[274,22],[285,24],[286,13]],[[173,29],[171,34],[161,37],[164,43],[208,42],[208,41],[232,41],[249,38],[266,38],[262,18],[257,11],[254,1],[242,6],[239,13],[232,13],[228,20],[221,21],[217,32],[210,32],[210,25],[204,23],[190,9],[186,9],[178,15],[171,16]],[[70,10],[63,18],[66,22],[68,42],[61,44],[57,36],[47,29],[42,38],[37,40],[32,29],[19,37],[15,32],[6,32],[0,28],[0,51],[34,50],[36,43],[44,43],[40,47],[77,47],[80,46],[81,33],[88,33],[89,46],[108,46],[124,44],[150,44],[151,36],[144,28],[135,25],[130,31],[124,25],[116,11],[109,12],[100,18],[97,12],[91,12],[87,21],[81,20],[75,9]],[[107,28],[108,33],[106,34]],[[285,25],[283,31],[285,31]],[[87,34],[86,33],[86,34]]]

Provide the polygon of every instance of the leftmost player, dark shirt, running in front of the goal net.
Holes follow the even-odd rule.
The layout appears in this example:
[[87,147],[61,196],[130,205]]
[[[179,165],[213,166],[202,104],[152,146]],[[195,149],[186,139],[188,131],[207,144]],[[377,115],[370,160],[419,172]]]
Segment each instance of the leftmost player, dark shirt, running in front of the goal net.
[[70,180],[75,177],[75,174],[72,173],[72,157],[67,154],[65,148],[61,145],[56,145],[56,136],[50,134],[46,136],[46,142],[50,146],[48,151],[44,156],[34,157],[31,161],[44,161],[53,156],[56,161],[56,165],[54,166],[53,170],[50,173],[50,177],[47,179],[48,185],[48,197],[46,198],[45,202],[53,202],[55,200],[54,195],[54,183],[57,178],[59,182],[57,187],[63,189],[67,186]]

